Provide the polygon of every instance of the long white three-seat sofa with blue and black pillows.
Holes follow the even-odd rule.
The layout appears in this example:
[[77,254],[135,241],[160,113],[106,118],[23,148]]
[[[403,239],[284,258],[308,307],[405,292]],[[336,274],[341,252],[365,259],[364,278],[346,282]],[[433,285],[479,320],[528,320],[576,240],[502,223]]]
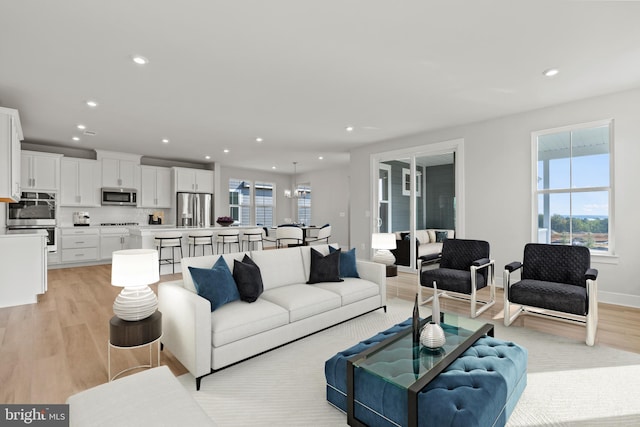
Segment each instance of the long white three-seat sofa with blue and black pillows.
[[[333,245],[332,245],[333,246]],[[315,245],[324,255],[328,245]],[[182,259],[180,281],[158,286],[162,343],[196,378],[378,308],[386,311],[385,266],[357,260],[357,278],[308,285],[309,246]],[[264,292],[257,301],[233,301],[211,312],[196,293],[189,266],[211,268],[223,256],[245,254],[258,265]]]

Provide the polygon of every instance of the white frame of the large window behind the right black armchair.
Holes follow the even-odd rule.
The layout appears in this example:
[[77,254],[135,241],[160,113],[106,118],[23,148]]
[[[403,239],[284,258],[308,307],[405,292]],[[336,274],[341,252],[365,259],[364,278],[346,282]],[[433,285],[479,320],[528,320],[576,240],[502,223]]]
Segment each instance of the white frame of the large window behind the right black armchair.
[[[580,189],[562,188],[562,189],[538,189],[538,138],[540,136],[576,131],[579,129],[609,126],[609,186],[608,187],[581,187]],[[531,211],[531,241],[538,242],[538,199],[541,194],[558,194],[558,193],[579,193],[592,191],[608,191],[609,193],[609,218],[608,218],[608,247],[607,251],[590,251],[591,256],[598,258],[613,258],[615,255],[615,186],[614,186],[614,120],[604,119],[593,122],[580,123],[576,125],[562,126],[552,129],[545,129],[531,133],[531,194],[532,194],[532,211]]]

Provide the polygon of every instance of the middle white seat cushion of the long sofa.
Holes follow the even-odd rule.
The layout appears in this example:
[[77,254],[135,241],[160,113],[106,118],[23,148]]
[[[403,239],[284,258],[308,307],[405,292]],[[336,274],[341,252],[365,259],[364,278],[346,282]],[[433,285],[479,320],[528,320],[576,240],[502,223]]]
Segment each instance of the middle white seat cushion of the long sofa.
[[339,308],[342,303],[340,295],[304,284],[265,290],[260,299],[266,299],[288,310],[289,322]]

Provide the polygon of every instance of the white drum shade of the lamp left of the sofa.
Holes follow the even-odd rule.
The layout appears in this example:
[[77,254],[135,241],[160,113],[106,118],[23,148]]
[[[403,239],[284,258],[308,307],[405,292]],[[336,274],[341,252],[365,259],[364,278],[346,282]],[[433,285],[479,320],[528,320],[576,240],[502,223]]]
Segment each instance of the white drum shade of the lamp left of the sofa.
[[113,286],[146,286],[160,280],[158,251],[126,249],[113,252],[111,284]]

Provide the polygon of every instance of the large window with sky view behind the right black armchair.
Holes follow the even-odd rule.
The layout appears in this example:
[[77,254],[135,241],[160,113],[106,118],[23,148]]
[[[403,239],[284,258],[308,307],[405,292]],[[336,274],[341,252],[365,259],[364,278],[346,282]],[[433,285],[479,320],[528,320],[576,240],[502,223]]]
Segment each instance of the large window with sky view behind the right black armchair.
[[613,252],[612,121],[535,132],[537,241]]

